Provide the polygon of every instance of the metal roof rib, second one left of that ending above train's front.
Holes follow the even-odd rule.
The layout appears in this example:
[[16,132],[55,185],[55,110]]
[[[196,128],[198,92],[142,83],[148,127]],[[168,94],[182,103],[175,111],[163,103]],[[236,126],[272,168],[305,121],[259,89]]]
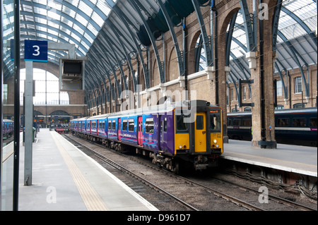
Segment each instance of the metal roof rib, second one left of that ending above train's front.
[[131,23],[131,21],[129,20],[129,18],[126,17],[126,15],[124,13],[122,13],[122,11],[120,10],[120,8],[118,8],[118,6],[114,6],[113,11],[116,13],[116,15],[118,16],[118,18],[120,20],[122,20],[122,23],[124,23],[124,25],[126,25],[127,30],[129,31],[129,34],[131,35],[131,38],[134,42],[134,44],[136,45],[136,50],[138,51],[139,54],[139,59],[141,60],[141,66],[143,67],[143,78],[145,80],[145,87],[146,88],[150,88],[150,74],[149,71],[146,67],[146,63],[143,59],[143,54],[141,51],[141,47],[137,42],[136,36],[134,35],[134,32],[131,31],[131,29],[129,28],[129,24],[133,25],[133,23]]

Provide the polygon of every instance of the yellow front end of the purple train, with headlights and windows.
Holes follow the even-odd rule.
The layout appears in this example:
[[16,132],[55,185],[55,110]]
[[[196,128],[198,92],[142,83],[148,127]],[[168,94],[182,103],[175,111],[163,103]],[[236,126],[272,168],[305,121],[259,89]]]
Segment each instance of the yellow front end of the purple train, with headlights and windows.
[[204,100],[183,101],[175,108],[175,155],[196,170],[218,166],[223,153],[222,109]]

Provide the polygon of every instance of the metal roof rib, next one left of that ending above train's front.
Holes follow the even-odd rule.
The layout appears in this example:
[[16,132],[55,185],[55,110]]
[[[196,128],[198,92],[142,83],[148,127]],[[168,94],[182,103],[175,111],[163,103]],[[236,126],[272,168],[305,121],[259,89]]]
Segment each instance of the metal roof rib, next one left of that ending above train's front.
[[129,4],[131,4],[131,6],[135,9],[136,13],[139,14],[141,20],[143,20],[143,25],[145,25],[146,31],[153,45],[153,51],[155,51],[155,59],[157,60],[160,83],[165,83],[165,73],[163,71],[163,64],[160,61],[157,45],[155,44],[155,37],[153,36],[153,32],[151,32],[151,29],[149,28],[147,21],[145,20],[145,18],[143,18],[143,15],[141,14],[141,11],[139,10],[141,3],[139,0],[131,0],[129,1]]

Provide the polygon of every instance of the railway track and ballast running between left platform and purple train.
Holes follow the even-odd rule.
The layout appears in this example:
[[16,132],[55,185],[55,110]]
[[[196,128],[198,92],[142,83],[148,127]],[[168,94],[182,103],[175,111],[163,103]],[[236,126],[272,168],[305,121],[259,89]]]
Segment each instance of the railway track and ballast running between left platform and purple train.
[[[223,201],[225,200],[225,202],[227,202],[228,204],[229,204],[229,202],[231,202],[232,205],[230,207],[223,208],[222,210],[224,210],[224,209],[225,210],[254,210],[254,211],[273,210],[273,209],[266,209],[266,207],[263,207],[263,205],[255,204],[255,201],[251,202],[250,200],[242,200],[241,196],[235,197],[235,196],[232,196],[228,193],[224,193],[223,191],[220,191],[220,188],[213,188],[211,186],[211,183],[213,183],[213,181],[210,183],[209,182],[202,183],[201,181],[194,181],[193,179],[189,179],[189,178],[185,178],[183,176],[177,176],[175,174],[172,174],[170,171],[158,169],[158,167],[154,166],[153,164],[149,164],[148,162],[144,162],[143,160],[138,159],[138,158],[136,159],[136,157],[124,155],[123,157],[125,157],[125,158],[129,157],[129,159],[132,159],[135,162],[138,162],[139,164],[143,164],[143,166],[147,166],[147,168],[151,168],[151,171],[156,171],[156,172],[150,172],[151,174],[153,174],[153,176],[148,176],[148,178],[150,178],[150,179],[148,179],[148,178],[146,179],[145,176],[143,176],[143,174],[140,173],[140,171],[138,171],[138,170],[134,171],[134,169],[131,169],[131,167],[122,166],[121,164],[114,162],[114,160],[106,157],[104,153],[101,153],[101,150],[98,150],[101,148],[103,151],[105,151],[104,146],[98,145],[94,142],[88,142],[88,141],[82,140],[80,138],[76,138],[77,140],[74,140],[75,138],[73,136],[71,136],[72,138],[70,138],[69,135],[67,135],[66,137],[68,137],[69,139],[72,139],[74,142],[77,142],[77,145],[81,145],[81,146],[85,147],[87,150],[89,150],[90,152],[93,152],[93,154],[96,157],[98,157],[100,160],[102,160],[102,162],[110,164],[112,167],[114,167],[120,171],[124,171],[126,174],[130,174],[131,176],[134,176],[134,178],[138,179],[139,181],[142,181],[143,183],[146,183],[147,186],[151,186],[152,188],[154,188],[158,192],[169,196],[175,202],[178,202],[180,205],[187,207],[187,209],[189,209],[189,210],[197,211],[197,210],[209,210],[209,209],[213,210],[214,209],[214,207],[212,207],[212,208],[211,207],[204,207],[204,206],[202,206],[202,204],[201,205],[198,204],[198,202],[200,202],[200,200],[193,201],[194,198],[197,198],[198,196],[200,197],[200,195],[206,196],[206,198],[208,198],[208,200],[206,201],[206,204],[210,204],[210,205],[213,204],[213,202],[210,201],[211,199],[216,200],[216,202],[222,202],[220,200],[220,199],[222,199]],[[86,145],[83,144],[84,141],[86,142]],[[90,145],[90,146],[87,146],[87,145]],[[114,150],[111,150],[111,151],[115,152]],[[117,154],[117,152],[116,152],[116,154]],[[120,155],[122,155],[122,154],[120,154]],[[145,169],[141,169],[141,170],[145,170]],[[155,175],[157,173],[158,173],[158,175]],[[139,174],[141,174],[141,175],[139,175]],[[161,175],[159,175],[159,174],[161,174]],[[160,178],[160,176],[163,178]],[[167,185],[166,183],[158,182],[158,180],[160,180],[160,179],[167,179],[167,180],[172,179],[172,181],[171,181],[170,185]],[[177,180],[177,182],[176,182],[176,180]],[[228,181],[220,181],[219,180],[219,182],[227,183],[226,185],[231,186],[231,187],[235,187],[235,186],[238,187],[239,186],[236,183],[230,183]],[[167,183],[169,183],[169,182],[167,182]],[[186,186],[185,189],[188,190],[185,192],[185,194],[182,195],[182,193],[184,193],[183,191],[179,191],[179,192],[177,190],[170,191],[170,189],[178,189],[178,188],[172,188],[173,185],[181,187],[181,186],[184,186],[184,184]],[[167,191],[167,189],[169,191]],[[179,189],[182,189],[182,188],[179,188]],[[247,187],[240,186],[239,189],[245,190],[244,195],[247,195],[247,193],[246,193],[246,190],[248,189]],[[193,191],[193,190],[195,190],[195,191]],[[172,193],[172,192],[175,192],[175,193]],[[193,195],[190,196],[187,193],[193,193]],[[256,196],[257,198],[259,196],[259,192],[256,190],[249,189],[249,193],[253,193],[252,195]],[[214,197],[211,197],[212,196],[211,194]],[[188,195],[188,196],[184,196],[184,195]],[[273,200],[275,200],[278,205],[286,205],[286,206],[291,208],[290,210],[315,210],[315,209],[311,209],[309,207],[298,205],[295,202],[290,202],[288,200],[284,200],[284,199],[281,199],[279,197],[275,197],[273,195],[270,195],[269,197],[270,197],[269,199],[271,200],[271,202],[273,202]],[[222,204],[224,204],[224,202],[222,202]],[[271,203],[271,205],[273,205],[273,203]],[[224,206],[224,207],[226,207],[226,206]],[[279,207],[279,209],[281,209],[281,207]],[[216,210],[220,210],[220,209],[216,208]],[[286,209],[286,210],[288,210],[288,209]]]

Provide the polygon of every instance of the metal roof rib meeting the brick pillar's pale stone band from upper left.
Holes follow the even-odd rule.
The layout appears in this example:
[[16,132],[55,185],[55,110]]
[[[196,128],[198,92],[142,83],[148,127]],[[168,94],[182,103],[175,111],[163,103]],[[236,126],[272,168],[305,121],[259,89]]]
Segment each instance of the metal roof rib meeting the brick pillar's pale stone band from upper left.
[[[247,6],[247,1],[246,0],[240,0],[240,5],[241,5],[241,11],[242,11],[242,16],[244,23],[246,24],[244,26],[245,28],[245,34],[247,37],[247,51],[257,51],[257,45],[255,42],[255,33],[256,29],[252,28],[252,19],[249,16],[249,8]],[[255,16],[254,16],[255,18]],[[255,23],[253,23],[255,24]]]

